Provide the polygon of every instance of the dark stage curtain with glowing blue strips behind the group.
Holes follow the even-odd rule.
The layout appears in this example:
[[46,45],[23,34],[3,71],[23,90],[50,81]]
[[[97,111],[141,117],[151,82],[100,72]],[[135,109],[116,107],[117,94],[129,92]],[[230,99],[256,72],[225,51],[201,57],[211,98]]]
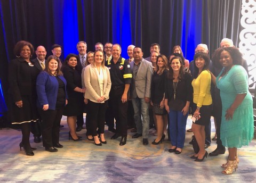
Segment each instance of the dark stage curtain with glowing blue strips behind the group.
[[[122,56],[133,44],[149,56],[151,43],[170,54],[180,45],[188,60],[193,60],[197,44],[209,46],[210,54],[224,37],[237,46],[242,0],[0,0],[0,79],[6,94],[7,63],[14,58],[19,40],[43,45],[47,56],[51,45],[63,46],[62,59],[76,53],[76,43],[84,40],[87,51],[94,44],[119,43]],[[35,55],[34,55],[35,57]]]

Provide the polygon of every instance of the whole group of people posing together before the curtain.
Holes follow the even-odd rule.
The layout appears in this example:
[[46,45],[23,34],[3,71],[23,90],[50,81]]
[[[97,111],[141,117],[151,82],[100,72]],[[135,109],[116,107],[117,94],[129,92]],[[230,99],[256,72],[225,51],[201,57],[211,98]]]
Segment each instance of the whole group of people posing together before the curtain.
[[95,52],[86,53],[85,41],[79,41],[77,51],[78,55],[69,54],[62,62],[60,45],[52,46],[53,55],[47,60],[43,46],[37,47],[34,60],[34,47],[29,42],[22,40],[14,47],[17,58],[9,64],[9,117],[12,124],[20,124],[20,149],[23,147],[26,155],[34,155],[36,149],[29,143],[31,126],[40,131],[32,130],[34,141],[38,142],[42,132],[46,151],[57,152],[63,147],[59,143],[62,115],[67,116],[69,139],[82,140],[76,131],[83,127],[85,111],[88,140],[97,146],[107,144],[106,121],[109,130],[115,132],[111,139],[121,137],[119,145],[125,145],[132,107],[137,131],[132,138],[142,137],[142,144],[148,145],[151,107],[157,130],[152,144],[163,142],[168,126],[172,144],[169,152],[180,154],[191,112],[191,130],[199,146],[191,159],[202,162],[208,155],[206,129],[212,115],[218,146],[210,156],[224,154],[228,147],[222,173],[231,174],[237,168],[237,148],[248,145],[253,138],[253,112],[246,62],[230,39],[222,39],[212,61],[207,45],[199,44],[190,63],[180,46],[174,46],[167,58],[156,43],[150,46],[151,54],[146,59],[142,49],[134,45],[127,47],[129,59],[121,56],[119,44],[97,43]]

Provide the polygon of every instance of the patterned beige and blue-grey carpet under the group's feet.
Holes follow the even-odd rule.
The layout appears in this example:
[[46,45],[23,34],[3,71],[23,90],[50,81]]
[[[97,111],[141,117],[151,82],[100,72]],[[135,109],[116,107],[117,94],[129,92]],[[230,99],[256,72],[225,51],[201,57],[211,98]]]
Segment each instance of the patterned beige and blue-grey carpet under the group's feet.
[[[208,156],[204,162],[194,162],[189,157],[193,148],[189,145],[193,133],[186,132],[185,148],[181,154],[169,153],[170,142],[152,145],[153,131],[150,131],[149,145],[142,145],[142,138],[132,139],[129,131],[127,144],[119,146],[120,138],[110,140],[112,132],[105,131],[107,144],[95,146],[86,140],[85,129],[78,132],[84,140],[68,140],[66,118],[60,131],[57,153],[44,151],[42,143],[35,144],[30,136],[31,146],[36,147],[35,156],[20,152],[21,132],[13,129],[0,130],[0,182],[256,182],[256,140],[250,146],[238,149],[239,166],[232,175],[221,173],[220,165],[226,162],[227,152],[216,157]],[[191,126],[188,120],[187,129]],[[212,122],[212,137],[214,123]],[[215,142],[207,148],[210,153]]]

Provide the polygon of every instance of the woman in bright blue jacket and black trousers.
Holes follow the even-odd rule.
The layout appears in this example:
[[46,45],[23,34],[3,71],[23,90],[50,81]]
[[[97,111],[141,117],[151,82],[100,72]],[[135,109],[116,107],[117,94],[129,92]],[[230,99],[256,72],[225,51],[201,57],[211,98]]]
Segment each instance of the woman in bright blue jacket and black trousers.
[[67,104],[67,81],[60,70],[59,59],[49,56],[45,70],[36,80],[37,107],[42,118],[43,146],[46,151],[57,152],[63,146],[59,143],[59,126],[63,109]]

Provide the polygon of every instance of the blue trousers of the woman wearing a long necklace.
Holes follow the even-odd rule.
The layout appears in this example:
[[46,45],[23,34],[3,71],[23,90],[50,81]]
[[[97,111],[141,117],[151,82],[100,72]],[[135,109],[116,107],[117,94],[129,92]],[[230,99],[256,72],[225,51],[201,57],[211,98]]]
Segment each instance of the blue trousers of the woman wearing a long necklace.
[[183,115],[181,111],[169,112],[169,132],[171,143],[173,146],[183,148],[185,143],[186,124],[188,113]]

